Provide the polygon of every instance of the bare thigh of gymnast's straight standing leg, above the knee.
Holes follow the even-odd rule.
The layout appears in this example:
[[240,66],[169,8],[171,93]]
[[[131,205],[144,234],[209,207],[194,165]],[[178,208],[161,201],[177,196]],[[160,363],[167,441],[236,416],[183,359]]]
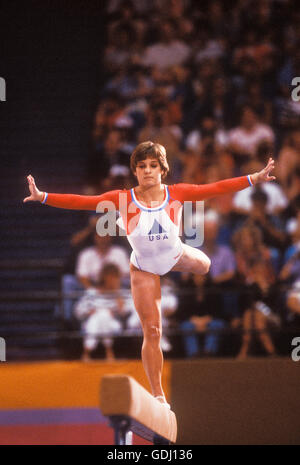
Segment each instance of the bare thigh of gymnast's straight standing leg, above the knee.
[[131,294],[142,325],[161,325],[160,276],[141,271],[130,263]]

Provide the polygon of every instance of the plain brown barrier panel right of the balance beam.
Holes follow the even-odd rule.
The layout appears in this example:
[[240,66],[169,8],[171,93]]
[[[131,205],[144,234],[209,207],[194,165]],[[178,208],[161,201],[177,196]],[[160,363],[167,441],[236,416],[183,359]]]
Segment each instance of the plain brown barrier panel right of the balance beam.
[[175,361],[178,444],[300,444],[299,362]]

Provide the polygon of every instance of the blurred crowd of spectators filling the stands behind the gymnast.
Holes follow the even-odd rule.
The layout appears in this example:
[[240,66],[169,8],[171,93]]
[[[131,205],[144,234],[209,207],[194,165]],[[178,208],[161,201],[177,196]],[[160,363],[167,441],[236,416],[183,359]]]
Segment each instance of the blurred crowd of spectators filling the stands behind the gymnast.
[[[134,186],[130,154],[145,140],[166,147],[167,184],[215,182],[259,171],[269,156],[276,160],[275,182],[205,202],[201,249],[212,260],[209,275],[165,278],[164,327],[180,329],[188,357],[219,354],[226,331],[241,334],[241,358],[251,354],[254,340],[263,353],[276,355],[274,333],[300,327],[300,100],[291,96],[292,80],[300,76],[297,3],[107,3],[104,84],[86,193]],[[105,331],[138,328],[126,294],[126,239],[93,235],[95,221],[72,238],[76,263],[65,272],[65,289],[90,293],[75,313],[84,324],[94,316],[92,333],[106,324],[103,315],[96,321],[97,305],[90,302],[103,300],[109,287],[117,292],[113,310],[106,306]],[[108,283],[107,273],[115,276]],[[92,336],[85,357],[95,348]],[[113,357],[112,339],[103,341]],[[164,338],[165,351],[172,350],[170,341]]]

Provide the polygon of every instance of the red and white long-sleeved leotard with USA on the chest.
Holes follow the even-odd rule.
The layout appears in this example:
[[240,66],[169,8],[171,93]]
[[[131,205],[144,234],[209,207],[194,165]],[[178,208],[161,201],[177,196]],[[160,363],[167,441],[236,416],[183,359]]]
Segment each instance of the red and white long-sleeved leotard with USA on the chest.
[[[183,247],[179,237],[185,201],[206,200],[252,185],[250,176],[211,184],[164,185],[165,197],[157,207],[139,202],[135,190],[113,190],[96,196],[45,194],[43,203],[74,210],[94,210],[100,202],[120,212],[120,222],[132,247],[130,261],[143,271],[164,275],[179,260]],[[120,224],[120,223],[119,223]]]

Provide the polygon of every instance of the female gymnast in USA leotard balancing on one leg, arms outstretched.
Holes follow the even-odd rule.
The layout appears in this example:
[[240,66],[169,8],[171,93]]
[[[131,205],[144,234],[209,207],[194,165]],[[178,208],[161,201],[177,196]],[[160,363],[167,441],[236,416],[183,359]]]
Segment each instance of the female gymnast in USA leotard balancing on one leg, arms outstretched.
[[166,150],[158,143],[147,141],[135,148],[130,166],[137,178],[136,187],[96,196],[41,192],[34,178],[29,175],[30,196],[24,202],[39,201],[52,207],[95,211],[99,202],[110,201],[110,205],[120,212],[127,239],[133,249],[130,257],[131,293],[143,328],[143,366],[153,396],[169,407],[161,382],[160,276],[169,271],[205,274],[210,267],[207,255],[180,240],[182,208],[176,210],[171,208],[171,204],[174,202],[182,206],[185,201],[205,200],[245,189],[249,185],[272,181],[275,177],[270,176],[270,172],[274,168],[274,160],[269,158],[264,169],[248,176],[211,184],[181,183],[168,186],[162,183],[169,171]]

